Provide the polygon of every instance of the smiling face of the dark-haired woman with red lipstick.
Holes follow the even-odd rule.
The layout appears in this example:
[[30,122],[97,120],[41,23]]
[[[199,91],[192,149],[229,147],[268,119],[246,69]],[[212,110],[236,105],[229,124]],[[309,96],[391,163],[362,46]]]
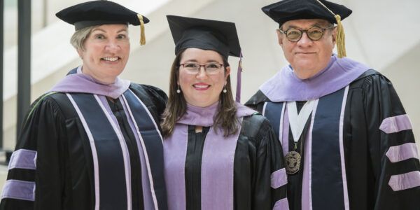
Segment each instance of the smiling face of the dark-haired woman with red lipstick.
[[[188,48],[181,55],[180,64],[193,62],[197,64],[223,64],[222,56],[214,50]],[[207,107],[218,102],[226,78],[230,73],[230,66],[223,65],[221,71],[208,74],[204,67],[198,73],[190,73],[183,66],[179,66],[177,83],[181,87],[183,97],[188,104]]]

